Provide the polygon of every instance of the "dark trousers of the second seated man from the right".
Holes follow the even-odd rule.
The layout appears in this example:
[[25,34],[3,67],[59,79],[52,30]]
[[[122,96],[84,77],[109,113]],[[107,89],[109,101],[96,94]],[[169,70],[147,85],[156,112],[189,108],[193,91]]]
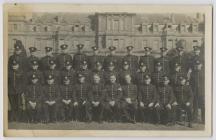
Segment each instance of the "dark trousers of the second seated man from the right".
[[156,107],[157,123],[169,123],[172,118],[172,109],[166,108],[166,105]]

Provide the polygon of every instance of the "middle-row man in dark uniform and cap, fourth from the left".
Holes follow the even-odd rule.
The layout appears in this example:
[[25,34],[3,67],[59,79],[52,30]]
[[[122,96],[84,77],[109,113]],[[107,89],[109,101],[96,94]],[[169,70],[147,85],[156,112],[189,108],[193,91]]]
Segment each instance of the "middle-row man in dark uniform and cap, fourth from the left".
[[76,79],[76,72],[72,68],[71,61],[65,61],[65,66],[63,70],[61,70],[61,81],[64,80],[64,77],[67,76],[70,80],[70,84],[74,84],[77,79]]

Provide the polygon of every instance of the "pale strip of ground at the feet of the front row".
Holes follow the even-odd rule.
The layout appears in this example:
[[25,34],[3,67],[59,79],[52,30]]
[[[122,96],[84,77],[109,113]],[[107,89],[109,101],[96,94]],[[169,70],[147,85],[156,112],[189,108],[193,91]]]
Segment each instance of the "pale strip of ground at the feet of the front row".
[[50,124],[28,124],[28,123],[9,123],[10,129],[45,129],[45,130],[203,130],[203,124],[193,124],[193,128],[182,125],[165,126],[149,123],[107,123],[99,124],[96,122],[58,122]]

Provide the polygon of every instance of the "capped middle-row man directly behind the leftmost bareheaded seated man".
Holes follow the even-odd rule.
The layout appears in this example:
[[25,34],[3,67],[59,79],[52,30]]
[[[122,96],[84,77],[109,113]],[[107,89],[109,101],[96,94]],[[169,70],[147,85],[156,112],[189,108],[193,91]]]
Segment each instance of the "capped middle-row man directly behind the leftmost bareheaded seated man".
[[96,64],[95,64],[95,68],[92,71],[92,75],[95,75],[95,74],[99,75],[100,82],[104,84],[104,70],[102,68],[102,63],[100,61],[96,61],[95,63]]

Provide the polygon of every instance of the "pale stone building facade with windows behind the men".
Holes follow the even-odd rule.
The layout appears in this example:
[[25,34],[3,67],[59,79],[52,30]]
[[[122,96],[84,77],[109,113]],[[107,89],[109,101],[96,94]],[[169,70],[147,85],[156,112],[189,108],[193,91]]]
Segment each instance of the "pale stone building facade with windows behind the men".
[[53,47],[59,53],[59,46],[67,43],[70,53],[76,52],[76,45],[83,43],[84,51],[91,53],[97,46],[106,55],[108,46],[117,47],[123,54],[125,47],[133,45],[140,55],[143,47],[151,47],[154,53],[160,47],[175,48],[179,41],[187,51],[194,45],[202,46],[204,40],[204,15],[184,14],[135,14],[135,13],[33,13],[31,16],[9,15],[9,52],[13,52],[16,39],[20,39],[27,52],[38,48],[38,56],[44,55],[44,47]]

